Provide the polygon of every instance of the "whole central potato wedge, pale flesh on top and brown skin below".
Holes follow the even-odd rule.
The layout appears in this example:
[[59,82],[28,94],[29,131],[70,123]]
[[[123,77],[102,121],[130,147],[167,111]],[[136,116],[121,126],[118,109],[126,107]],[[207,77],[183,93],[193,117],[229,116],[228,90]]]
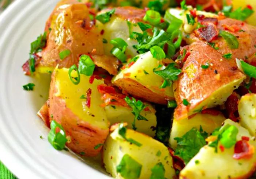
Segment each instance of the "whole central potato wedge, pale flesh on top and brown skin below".
[[[153,72],[158,65],[163,64],[153,58],[150,51],[146,52],[141,54],[131,67],[121,70],[112,82],[132,96],[158,104],[167,104],[168,100],[174,99],[174,94],[172,86],[160,88],[163,78]],[[163,68],[165,67],[163,66],[159,70],[163,70]]]

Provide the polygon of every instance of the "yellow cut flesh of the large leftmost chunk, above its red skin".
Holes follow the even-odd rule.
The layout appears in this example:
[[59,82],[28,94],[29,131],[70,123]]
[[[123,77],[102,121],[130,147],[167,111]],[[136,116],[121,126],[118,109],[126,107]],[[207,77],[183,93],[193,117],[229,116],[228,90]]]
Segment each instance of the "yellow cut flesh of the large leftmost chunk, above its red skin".
[[[72,76],[76,76],[73,71]],[[56,69],[56,97],[65,101],[66,107],[78,116],[81,120],[97,126],[101,129],[107,129],[109,122],[106,117],[104,108],[100,107],[101,94],[98,93],[97,86],[103,84],[103,81],[94,79],[92,84],[89,83],[90,77],[81,74],[80,83],[75,85],[68,77],[68,69]],[[88,89],[91,89],[91,105],[86,106],[86,99],[80,99],[82,95],[86,96]]]

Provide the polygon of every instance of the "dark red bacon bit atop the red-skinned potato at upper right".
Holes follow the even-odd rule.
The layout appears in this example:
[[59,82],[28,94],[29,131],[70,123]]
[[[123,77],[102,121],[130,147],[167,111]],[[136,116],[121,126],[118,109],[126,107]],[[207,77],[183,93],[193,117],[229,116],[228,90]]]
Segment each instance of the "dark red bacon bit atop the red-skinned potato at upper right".
[[211,42],[212,40],[217,39],[219,34],[217,27],[212,23],[208,23],[207,27],[199,28],[195,32],[199,38],[202,38],[207,42]]

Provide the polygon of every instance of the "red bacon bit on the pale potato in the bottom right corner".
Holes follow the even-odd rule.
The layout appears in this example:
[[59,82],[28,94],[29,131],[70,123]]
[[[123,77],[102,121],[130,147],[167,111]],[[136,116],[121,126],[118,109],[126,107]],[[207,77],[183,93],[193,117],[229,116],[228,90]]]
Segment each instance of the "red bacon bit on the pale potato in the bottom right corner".
[[254,154],[254,147],[246,140],[237,141],[234,148],[233,159],[250,159]]

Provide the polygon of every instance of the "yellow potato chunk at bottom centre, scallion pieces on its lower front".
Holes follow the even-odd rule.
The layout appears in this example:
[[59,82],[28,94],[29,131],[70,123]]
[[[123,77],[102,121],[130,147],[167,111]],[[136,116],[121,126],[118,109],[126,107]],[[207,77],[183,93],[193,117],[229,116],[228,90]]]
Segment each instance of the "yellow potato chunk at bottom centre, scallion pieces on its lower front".
[[[142,165],[139,179],[148,179],[151,176],[151,169],[159,162],[165,168],[165,178],[172,179],[175,176],[172,156],[165,145],[142,133],[127,129],[126,137],[138,141],[142,146],[130,144],[118,134],[118,129],[111,133],[103,146],[103,163],[106,171],[114,178],[123,178],[117,173],[116,167],[125,154],[131,156]],[[161,152],[157,156],[158,151]]]

